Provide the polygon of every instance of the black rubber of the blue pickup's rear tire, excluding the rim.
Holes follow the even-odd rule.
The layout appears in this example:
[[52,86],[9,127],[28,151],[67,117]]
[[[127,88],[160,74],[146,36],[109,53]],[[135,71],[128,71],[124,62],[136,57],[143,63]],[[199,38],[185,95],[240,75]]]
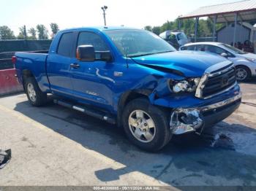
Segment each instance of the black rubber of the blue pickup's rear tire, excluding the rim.
[[[29,96],[29,92],[28,92],[29,85],[33,85],[33,87],[34,87],[34,92],[35,92],[35,95],[36,95],[35,100],[33,100]],[[34,79],[34,77],[26,78],[25,82],[24,82],[24,87],[25,87],[26,96],[28,97],[29,102],[33,106],[43,106],[47,103],[47,93],[43,93],[40,90],[40,88],[37,85],[37,81],[36,81],[36,79]]]

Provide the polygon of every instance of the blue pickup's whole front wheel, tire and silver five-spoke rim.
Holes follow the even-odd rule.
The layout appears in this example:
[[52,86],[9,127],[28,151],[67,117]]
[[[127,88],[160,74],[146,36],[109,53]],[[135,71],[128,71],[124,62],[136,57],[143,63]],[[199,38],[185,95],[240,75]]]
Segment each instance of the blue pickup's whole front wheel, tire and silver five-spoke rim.
[[123,126],[130,141],[147,151],[162,149],[172,136],[167,115],[145,98],[135,99],[124,109]]

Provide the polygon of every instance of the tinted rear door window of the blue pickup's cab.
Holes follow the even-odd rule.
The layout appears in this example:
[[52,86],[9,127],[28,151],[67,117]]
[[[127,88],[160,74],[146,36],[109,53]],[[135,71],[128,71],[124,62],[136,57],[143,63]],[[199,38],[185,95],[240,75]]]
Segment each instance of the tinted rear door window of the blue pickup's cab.
[[64,55],[67,57],[73,57],[75,56],[72,54],[72,50],[74,48],[74,42],[75,42],[75,34],[73,33],[65,33],[62,34],[61,40],[59,42],[59,47],[57,50],[58,55]]

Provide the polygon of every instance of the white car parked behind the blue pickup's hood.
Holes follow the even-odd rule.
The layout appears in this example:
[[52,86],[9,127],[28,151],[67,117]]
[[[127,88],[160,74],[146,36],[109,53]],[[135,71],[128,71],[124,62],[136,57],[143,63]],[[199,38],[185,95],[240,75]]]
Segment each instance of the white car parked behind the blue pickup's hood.
[[179,50],[210,52],[226,57],[236,66],[236,79],[246,81],[256,76],[256,55],[238,50],[221,42],[196,42],[185,44]]

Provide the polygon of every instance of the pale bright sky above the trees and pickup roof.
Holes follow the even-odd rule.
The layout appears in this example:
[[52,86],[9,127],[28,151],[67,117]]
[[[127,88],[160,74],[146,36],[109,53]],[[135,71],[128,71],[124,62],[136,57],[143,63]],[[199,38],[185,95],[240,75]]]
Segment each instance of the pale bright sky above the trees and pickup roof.
[[160,26],[198,7],[238,0],[0,0],[0,26],[18,28],[58,23],[61,29],[101,26],[102,5],[107,5],[109,26]]

